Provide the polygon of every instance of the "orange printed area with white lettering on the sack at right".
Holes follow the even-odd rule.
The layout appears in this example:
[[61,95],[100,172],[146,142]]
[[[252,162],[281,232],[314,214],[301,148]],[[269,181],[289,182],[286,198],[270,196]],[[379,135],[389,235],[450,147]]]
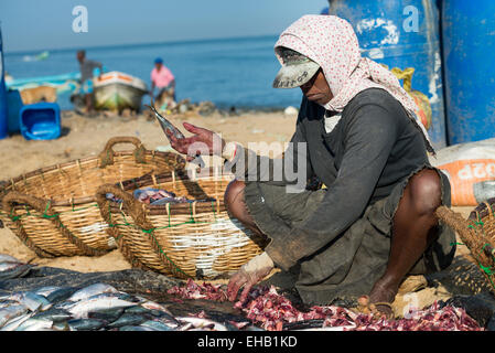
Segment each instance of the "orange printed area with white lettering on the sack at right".
[[438,165],[448,174],[453,206],[476,206],[483,201],[480,185],[495,180],[495,159],[459,160]]

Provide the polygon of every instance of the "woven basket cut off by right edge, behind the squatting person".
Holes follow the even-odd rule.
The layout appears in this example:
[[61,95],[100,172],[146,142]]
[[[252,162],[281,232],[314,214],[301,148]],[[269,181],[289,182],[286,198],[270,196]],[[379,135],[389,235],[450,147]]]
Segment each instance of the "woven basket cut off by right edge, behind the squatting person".
[[458,232],[495,293],[495,199],[478,204],[467,220],[446,206],[440,206],[437,215]]

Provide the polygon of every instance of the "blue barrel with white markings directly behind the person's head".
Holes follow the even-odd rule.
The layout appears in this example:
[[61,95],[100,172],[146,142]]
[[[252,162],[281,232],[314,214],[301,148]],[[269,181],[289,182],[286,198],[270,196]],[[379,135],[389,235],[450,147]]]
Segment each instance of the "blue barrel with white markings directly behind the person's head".
[[428,96],[434,148],[446,146],[439,9],[434,0],[330,0],[329,13],[353,25],[363,56],[390,69],[413,67],[412,89]]

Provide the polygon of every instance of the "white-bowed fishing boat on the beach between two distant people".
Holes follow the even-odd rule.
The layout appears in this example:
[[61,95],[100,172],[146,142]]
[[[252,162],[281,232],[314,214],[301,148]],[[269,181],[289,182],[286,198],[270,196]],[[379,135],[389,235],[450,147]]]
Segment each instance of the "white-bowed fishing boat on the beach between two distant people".
[[121,111],[129,108],[138,111],[148,89],[142,79],[112,71],[95,77],[94,93],[97,109]]

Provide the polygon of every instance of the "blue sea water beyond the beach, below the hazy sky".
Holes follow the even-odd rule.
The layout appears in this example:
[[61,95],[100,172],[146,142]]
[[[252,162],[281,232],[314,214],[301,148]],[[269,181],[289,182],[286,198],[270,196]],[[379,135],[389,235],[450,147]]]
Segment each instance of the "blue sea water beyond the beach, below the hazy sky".
[[[277,36],[219,39],[153,44],[87,47],[86,56],[106,71],[120,71],[143,79],[150,87],[155,57],[162,57],[175,76],[176,98],[198,103],[211,100],[220,108],[270,109],[301,103],[300,89],[275,89],[271,83],[280,68],[273,53]],[[13,78],[77,72],[78,49],[50,51],[45,60],[37,52],[7,53],[4,65]],[[157,90],[155,90],[157,94]],[[149,96],[143,96],[148,103]],[[58,96],[61,109],[72,109],[69,94]]]

